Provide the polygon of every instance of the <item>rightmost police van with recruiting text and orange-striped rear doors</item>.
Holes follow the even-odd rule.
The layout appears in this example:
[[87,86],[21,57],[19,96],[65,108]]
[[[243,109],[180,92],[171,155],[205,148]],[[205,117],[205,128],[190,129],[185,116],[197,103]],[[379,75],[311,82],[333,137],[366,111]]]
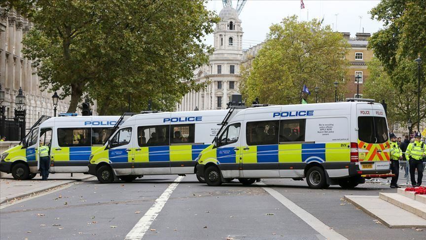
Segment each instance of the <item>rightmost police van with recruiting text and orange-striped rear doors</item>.
[[306,178],[310,188],[352,188],[391,175],[388,140],[385,110],[374,100],[231,109],[198,156],[197,175],[210,186]]

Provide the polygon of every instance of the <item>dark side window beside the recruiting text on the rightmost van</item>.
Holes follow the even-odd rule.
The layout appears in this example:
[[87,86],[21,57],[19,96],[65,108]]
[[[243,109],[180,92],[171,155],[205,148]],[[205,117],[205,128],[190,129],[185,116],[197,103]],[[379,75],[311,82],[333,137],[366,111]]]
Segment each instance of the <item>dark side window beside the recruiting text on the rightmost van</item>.
[[306,119],[280,120],[280,143],[304,142]]

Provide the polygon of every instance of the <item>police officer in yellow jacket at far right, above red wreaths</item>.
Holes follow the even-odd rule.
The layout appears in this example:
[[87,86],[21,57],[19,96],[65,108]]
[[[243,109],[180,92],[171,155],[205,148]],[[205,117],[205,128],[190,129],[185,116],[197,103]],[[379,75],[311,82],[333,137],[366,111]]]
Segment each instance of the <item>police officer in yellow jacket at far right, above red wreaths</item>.
[[[423,158],[426,156],[426,144],[421,141],[422,134],[416,132],[414,142],[410,143],[405,151],[405,156],[408,157],[410,163],[411,185],[419,187],[422,185],[423,178]],[[414,173],[417,168],[417,183]]]

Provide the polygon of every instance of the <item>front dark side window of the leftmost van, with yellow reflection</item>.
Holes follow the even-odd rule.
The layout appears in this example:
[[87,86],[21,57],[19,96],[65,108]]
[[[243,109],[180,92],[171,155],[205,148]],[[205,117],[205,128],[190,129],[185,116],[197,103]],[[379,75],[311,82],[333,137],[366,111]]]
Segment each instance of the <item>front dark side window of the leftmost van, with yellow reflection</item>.
[[90,127],[58,128],[58,145],[60,147],[90,147]]

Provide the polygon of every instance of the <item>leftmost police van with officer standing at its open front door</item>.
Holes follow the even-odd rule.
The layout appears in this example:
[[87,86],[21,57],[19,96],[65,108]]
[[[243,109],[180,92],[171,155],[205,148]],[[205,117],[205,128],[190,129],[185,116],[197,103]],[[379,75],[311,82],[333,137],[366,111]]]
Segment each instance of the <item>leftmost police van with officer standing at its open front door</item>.
[[90,154],[101,148],[119,116],[42,116],[23,141],[1,155],[0,171],[14,179],[36,176],[38,147],[49,147],[51,173],[87,173]]

